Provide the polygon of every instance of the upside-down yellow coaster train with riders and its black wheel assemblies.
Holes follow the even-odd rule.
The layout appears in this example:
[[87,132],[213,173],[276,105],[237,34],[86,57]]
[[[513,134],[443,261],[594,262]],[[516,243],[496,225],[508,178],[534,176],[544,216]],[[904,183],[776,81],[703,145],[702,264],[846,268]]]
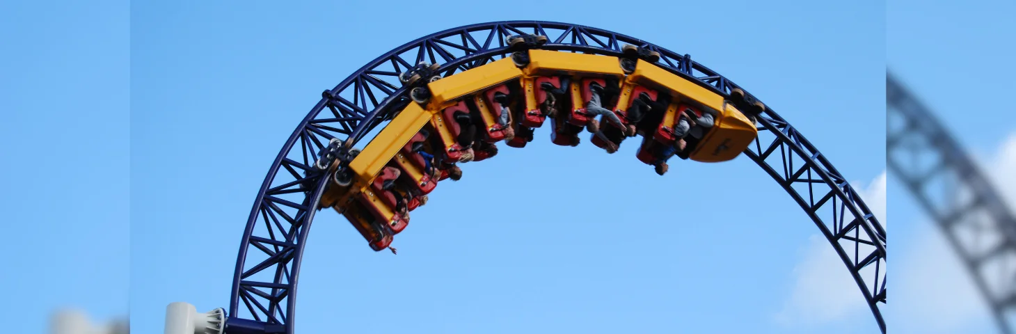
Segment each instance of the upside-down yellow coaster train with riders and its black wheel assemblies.
[[[515,49],[546,42],[543,36],[506,39]],[[458,178],[456,162],[490,158],[497,152],[495,143],[502,140],[524,147],[533,139],[532,128],[549,116],[552,141],[564,146],[578,145],[577,134],[585,128],[593,133],[593,144],[613,153],[625,137],[641,133],[637,156],[656,165],[660,175],[671,155],[661,152],[668,149],[697,161],[725,161],[755,140],[757,130],[749,120],[765,110],[760,102],[750,102],[735,88],[728,103],[652,65],[659,59],[654,51],[631,45],[622,50],[652,61],[525,50],[446,78],[430,72],[437,65],[415,66],[400,75],[412,86],[412,103],[367,147],[360,151],[348,141],[332,138],[319,154],[315,165],[332,180],[320,206],[343,214],[375,251],[385,249],[408,224],[408,212],[426,203],[440,180]],[[421,79],[427,84],[414,86]],[[617,93],[610,94],[612,87]],[[743,114],[735,106],[752,112]],[[602,111],[604,124],[610,127],[598,129],[593,109]],[[611,110],[616,115],[608,114]],[[347,164],[336,158],[343,154],[353,157]]]

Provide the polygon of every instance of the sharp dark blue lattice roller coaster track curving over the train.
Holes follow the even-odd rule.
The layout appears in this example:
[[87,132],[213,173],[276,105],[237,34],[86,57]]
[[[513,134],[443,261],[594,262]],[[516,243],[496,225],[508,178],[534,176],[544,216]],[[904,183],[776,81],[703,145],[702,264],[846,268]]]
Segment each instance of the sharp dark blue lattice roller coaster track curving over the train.
[[[361,142],[410,103],[397,79],[399,72],[421,61],[441,64],[438,72],[445,77],[466,71],[509,55],[505,37],[520,34],[547,36],[550,41],[541,49],[561,52],[620,57],[624,44],[640,46],[661,55],[657,66],[716,93],[725,96],[740,87],[688,55],[624,35],[559,22],[460,26],[389,51],[325,90],[272,162],[244,229],[226,333],[294,333],[302,253],[328,182],[312,166],[316,153],[333,137]],[[847,180],[787,121],[767,110],[758,123],[759,138],[745,155],[768,173],[826,237],[884,333],[880,305],[886,298],[885,229]]]

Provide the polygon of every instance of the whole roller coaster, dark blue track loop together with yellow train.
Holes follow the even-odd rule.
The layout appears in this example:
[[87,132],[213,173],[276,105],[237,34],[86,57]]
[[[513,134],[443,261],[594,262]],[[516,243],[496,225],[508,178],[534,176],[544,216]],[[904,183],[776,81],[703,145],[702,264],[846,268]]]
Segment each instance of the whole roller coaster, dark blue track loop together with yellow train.
[[578,145],[583,130],[608,152],[641,136],[637,158],[660,175],[671,155],[719,162],[744,153],[826,237],[885,332],[885,229],[797,129],[687,54],[547,21],[433,34],[325,90],[258,191],[229,311],[210,313],[209,330],[294,333],[300,265],[318,210],[334,209],[384,250],[427,194],[461,177],[458,164],[492,158],[499,141],[524,147],[548,120],[562,146]]

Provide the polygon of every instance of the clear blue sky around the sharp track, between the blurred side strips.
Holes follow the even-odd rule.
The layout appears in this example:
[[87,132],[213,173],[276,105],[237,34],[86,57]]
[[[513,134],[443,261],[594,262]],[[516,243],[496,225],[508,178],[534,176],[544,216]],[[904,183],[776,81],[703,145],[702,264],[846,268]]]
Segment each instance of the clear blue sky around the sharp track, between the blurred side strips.
[[[614,2],[513,5],[542,10],[524,14],[451,2],[440,19],[406,28],[403,19],[414,16],[391,8],[410,6],[131,8],[135,330],[161,328],[171,302],[202,311],[228,306],[257,187],[321,90],[392,48],[458,25],[575,22],[689,53],[791,120],[851,180],[867,184],[885,169],[883,2],[661,3],[632,20],[610,18]],[[676,12],[723,16],[673,24]],[[396,240],[398,256],[371,252],[347,222],[322,211],[303,262],[299,330],[876,329],[867,310],[818,327],[775,320],[817,229],[750,160],[681,161],[660,178],[635,159],[630,143],[608,155],[588,145],[555,146],[546,130],[537,138],[525,149],[463,165],[462,182],[442,185],[415,212],[412,227]],[[570,173],[519,172],[533,163]],[[736,199],[736,208],[717,206],[724,199]],[[361,280],[373,288],[354,288]],[[837,288],[860,296],[852,285]],[[833,329],[840,324],[847,327]]]

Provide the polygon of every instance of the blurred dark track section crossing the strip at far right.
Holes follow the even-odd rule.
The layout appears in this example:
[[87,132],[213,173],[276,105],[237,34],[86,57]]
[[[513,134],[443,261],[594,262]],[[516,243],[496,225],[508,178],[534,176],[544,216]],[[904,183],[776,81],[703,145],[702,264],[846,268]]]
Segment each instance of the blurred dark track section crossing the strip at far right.
[[886,73],[886,111],[889,172],[945,232],[1001,331],[1013,333],[1007,320],[1016,311],[1012,211],[933,113],[891,73]]

